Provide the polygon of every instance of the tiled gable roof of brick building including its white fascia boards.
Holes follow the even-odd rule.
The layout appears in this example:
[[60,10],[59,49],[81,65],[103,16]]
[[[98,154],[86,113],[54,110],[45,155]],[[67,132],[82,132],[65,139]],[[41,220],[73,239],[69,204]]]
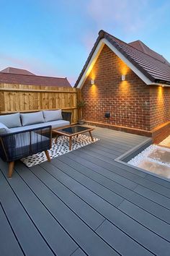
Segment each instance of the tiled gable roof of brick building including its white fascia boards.
[[142,42],[128,44],[104,30],[100,30],[97,41],[94,43],[74,87],[81,88],[84,85],[86,77],[94,66],[104,44],[109,46],[147,85],[170,84],[170,64],[164,57],[161,59],[160,54],[152,51]]

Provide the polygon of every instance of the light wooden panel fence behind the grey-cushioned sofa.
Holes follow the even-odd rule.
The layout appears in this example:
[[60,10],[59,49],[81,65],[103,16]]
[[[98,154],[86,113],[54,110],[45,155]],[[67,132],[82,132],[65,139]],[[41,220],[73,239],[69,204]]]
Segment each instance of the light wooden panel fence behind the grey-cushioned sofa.
[[72,123],[78,119],[77,101],[81,92],[76,88],[0,84],[0,114],[33,112],[44,109],[72,112]]

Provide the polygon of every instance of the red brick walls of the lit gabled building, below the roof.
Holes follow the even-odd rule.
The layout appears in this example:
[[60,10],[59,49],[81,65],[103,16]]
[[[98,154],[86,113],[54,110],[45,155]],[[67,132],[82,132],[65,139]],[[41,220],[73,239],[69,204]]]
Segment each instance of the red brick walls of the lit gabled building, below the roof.
[[[122,74],[126,74],[125,81],[121,80]],[[91,79],[95,85],[91,85]],[[82,88],[86,101],[83,116],[86,121],[149,131],[169,121],[166,111],[170,109],[169,89],[146,85],[104,46]],[[107,111],[111,114],[109,119],[104,118]]]

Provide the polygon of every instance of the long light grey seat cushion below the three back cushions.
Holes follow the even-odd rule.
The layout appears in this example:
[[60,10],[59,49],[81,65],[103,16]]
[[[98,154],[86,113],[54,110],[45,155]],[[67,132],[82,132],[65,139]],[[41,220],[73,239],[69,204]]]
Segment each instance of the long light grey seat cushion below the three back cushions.
[[69,125],[70,122],[66,121],[66,120],[58,120],[58,121],[48,121],[45,123],[41,123],[41,124],[32,124],[32,125],[27,125],[25,127],[15,127],[15,128],[11,128],[10,132],[21,132],[24,131],[26,129],[34,129],[34,128],[40,128],[40,127],[45,127],[48,125],[52,126],[52,129],[58,128],[58,127],[64,127],[65,125]]

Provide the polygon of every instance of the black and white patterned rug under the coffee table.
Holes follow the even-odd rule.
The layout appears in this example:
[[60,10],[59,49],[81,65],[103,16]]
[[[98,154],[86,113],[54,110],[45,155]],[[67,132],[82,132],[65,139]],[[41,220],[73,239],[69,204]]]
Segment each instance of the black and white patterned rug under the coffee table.
[[[96,142],[97,138],[94,137],[94,142]],[[78,148],[84,147],[93,143],[90,136],[79,135],[79,137],[72,138],[72,150],[76,150]],[[66,154],[71,152],[69,150],[69,138],[66,136],[58,137],[57,143],[55,144],[55,139],[52,141],[52,148],[48,150],[50,158],[56,158],[59,155]],[[27,156],[27,158],[22,158],[21,161],[28,167],[35,166],[38,163],[42,163],[47,161],[46,155],[44,152],[37,153],[35,155]]]

